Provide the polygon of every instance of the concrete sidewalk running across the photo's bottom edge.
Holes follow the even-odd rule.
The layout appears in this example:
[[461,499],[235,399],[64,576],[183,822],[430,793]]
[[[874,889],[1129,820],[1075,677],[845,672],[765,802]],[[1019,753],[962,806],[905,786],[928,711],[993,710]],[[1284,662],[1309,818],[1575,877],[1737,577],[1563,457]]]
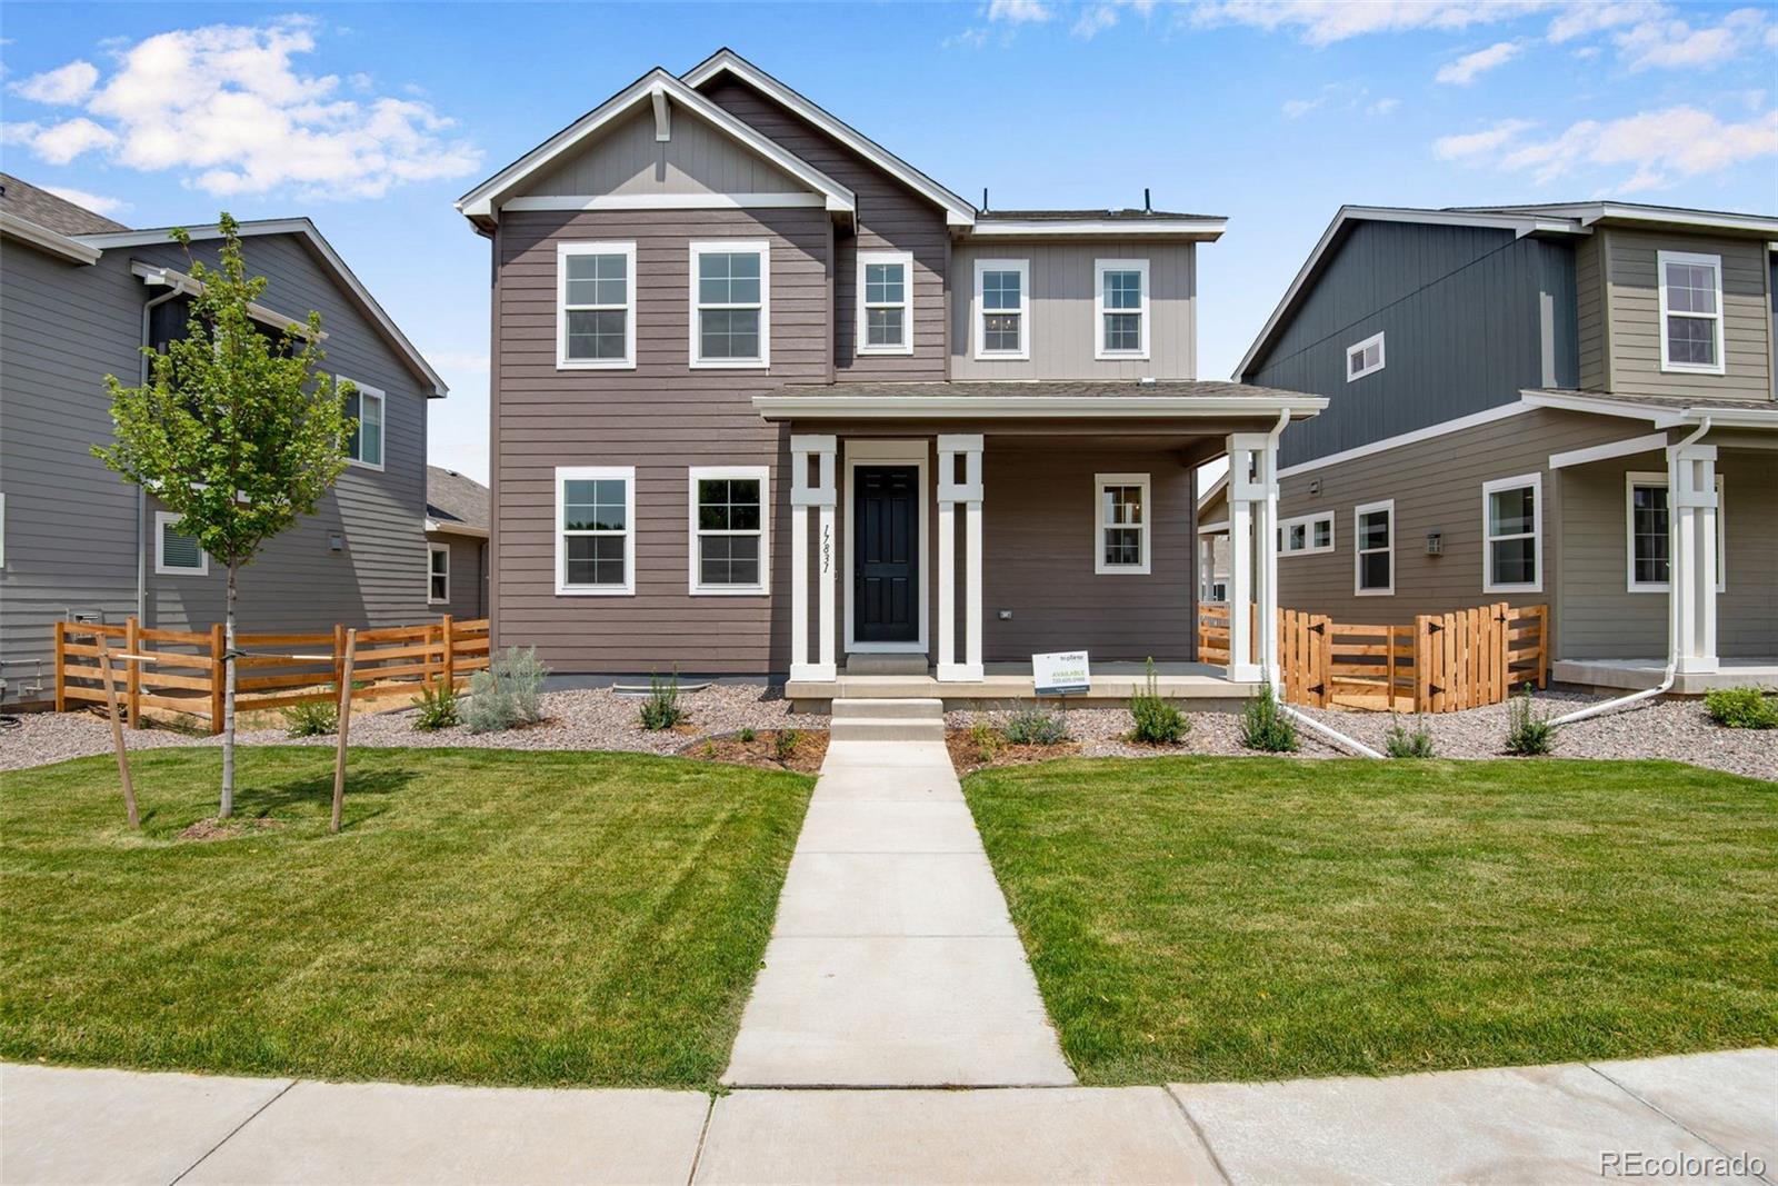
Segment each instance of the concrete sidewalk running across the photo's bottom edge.
[[[1728,1172],[1737,1156],[1764,1177]],[[1606,1179],[1771,1186],[1778,1051],[1168,1088],[741,1090],[715,1102],[0,1067],[7,1186],[1598,1182],[1607,1165],[1618,1174]]]

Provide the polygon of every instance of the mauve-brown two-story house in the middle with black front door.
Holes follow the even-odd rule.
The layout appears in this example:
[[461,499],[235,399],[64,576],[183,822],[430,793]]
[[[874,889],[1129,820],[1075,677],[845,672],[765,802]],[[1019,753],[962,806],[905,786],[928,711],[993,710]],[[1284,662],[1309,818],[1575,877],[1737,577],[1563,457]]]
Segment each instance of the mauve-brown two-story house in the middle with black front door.
[[496,640],[558,674],[820,701],[1189,663],[1195,468],[1323,405],[1195,379],[1223,219],[978,210],[727,50],[459,210],[493,242]]

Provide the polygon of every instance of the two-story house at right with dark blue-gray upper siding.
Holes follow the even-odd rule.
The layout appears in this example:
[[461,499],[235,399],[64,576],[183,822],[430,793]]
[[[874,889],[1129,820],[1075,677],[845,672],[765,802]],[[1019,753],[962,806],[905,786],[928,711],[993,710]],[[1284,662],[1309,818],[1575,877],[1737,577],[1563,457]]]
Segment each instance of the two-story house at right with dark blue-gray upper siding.
[[1284,434],[1278,587],[1337,621],[1510,601],[1552,676],[1778,679],[1778,217],[1346,206],[1237,370]]

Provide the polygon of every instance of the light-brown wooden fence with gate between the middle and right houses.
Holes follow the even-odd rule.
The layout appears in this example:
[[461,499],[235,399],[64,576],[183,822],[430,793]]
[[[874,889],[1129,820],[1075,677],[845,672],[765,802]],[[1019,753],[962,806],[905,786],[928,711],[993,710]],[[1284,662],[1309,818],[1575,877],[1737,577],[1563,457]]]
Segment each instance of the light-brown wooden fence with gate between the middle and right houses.
[[[1257,640],[1253,642],[1257,656]],[[1198,660],[1229,661],[1229,606],[1198,613]],[[1412,626],[1335,622],[1278,610],[1278,693],[1291,704],[1454,713],[1499,704],[1549,677],[1549,606],[1422,613]]]

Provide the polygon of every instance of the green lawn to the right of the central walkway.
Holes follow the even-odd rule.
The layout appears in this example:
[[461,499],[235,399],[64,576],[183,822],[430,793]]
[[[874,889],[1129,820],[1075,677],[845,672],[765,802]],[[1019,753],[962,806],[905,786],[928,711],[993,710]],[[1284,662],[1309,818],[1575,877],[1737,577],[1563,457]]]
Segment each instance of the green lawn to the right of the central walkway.
[[964,791],[1086,1083],[1778,1042],[1771,782],[1175,757]]

